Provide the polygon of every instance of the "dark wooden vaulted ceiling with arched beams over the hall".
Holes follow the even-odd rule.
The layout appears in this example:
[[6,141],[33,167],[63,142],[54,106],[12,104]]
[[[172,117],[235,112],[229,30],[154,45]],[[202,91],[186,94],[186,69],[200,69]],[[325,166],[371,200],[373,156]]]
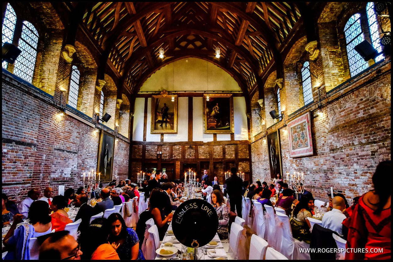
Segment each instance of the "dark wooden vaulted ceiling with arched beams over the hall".
[[162,66],[198,57],[248,94],[299,17],[296,4],[286,2],[92,2],[83,24],[132,93]]

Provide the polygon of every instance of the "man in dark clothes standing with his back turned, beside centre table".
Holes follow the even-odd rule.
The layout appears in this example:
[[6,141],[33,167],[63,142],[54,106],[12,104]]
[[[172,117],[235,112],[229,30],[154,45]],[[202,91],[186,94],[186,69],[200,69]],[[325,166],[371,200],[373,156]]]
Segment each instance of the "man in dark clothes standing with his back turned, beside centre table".
[[226,190],[229,196],[229,204],[231,206],[231,211],[235,212],[236,207],[237,216],[242,217],[243,181],[240,177],[236,175],[236,173],[237,169],[235,167],[231,168],[231,177],[225,181]]

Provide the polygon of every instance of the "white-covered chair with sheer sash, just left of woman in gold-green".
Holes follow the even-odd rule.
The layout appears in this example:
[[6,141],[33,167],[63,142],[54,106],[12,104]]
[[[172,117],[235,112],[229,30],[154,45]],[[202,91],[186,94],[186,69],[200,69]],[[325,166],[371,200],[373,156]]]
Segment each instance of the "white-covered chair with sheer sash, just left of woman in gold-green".
[[288,216],[281,213],[276,213],[276,215],[278,219],[276,229],[281,234],[281,245],[277,251],[289,260],[310,260],[309,253],[299,251],[301,248],[309,248],[310,245],[293,238]]

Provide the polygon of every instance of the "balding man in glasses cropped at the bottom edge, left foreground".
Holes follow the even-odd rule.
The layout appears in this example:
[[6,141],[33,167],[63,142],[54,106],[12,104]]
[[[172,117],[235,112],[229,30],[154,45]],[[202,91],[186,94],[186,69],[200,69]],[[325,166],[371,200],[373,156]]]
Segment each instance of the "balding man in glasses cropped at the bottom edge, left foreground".
[[48,234],[39,249],[40,260],[80,260],[82,254],[70,231],[64,230]]

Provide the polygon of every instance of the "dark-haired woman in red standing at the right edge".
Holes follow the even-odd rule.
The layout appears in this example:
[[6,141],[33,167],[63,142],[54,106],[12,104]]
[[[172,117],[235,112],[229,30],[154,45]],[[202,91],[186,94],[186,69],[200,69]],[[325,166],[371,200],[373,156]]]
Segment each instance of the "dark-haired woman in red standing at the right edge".
[[[345,260],[391,258],[390,175],[390,161],[380,162],[372,179],[374,190],[360,197],[351,215],[346,248],[365,248],[368,252],[346,252]],[[370,250],[374,248],[382,252]]]

